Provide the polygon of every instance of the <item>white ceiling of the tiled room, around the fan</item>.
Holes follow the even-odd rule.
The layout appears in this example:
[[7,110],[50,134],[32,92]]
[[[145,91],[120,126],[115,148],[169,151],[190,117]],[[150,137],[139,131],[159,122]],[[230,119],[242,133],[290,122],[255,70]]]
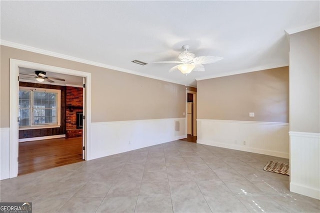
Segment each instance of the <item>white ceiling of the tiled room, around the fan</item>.
[[[1,1],[1,43],[14,42],[181,84],[288,64],[284,30],[319,25],[319,1]],[[190,52],[224,57],[169,73]]]

